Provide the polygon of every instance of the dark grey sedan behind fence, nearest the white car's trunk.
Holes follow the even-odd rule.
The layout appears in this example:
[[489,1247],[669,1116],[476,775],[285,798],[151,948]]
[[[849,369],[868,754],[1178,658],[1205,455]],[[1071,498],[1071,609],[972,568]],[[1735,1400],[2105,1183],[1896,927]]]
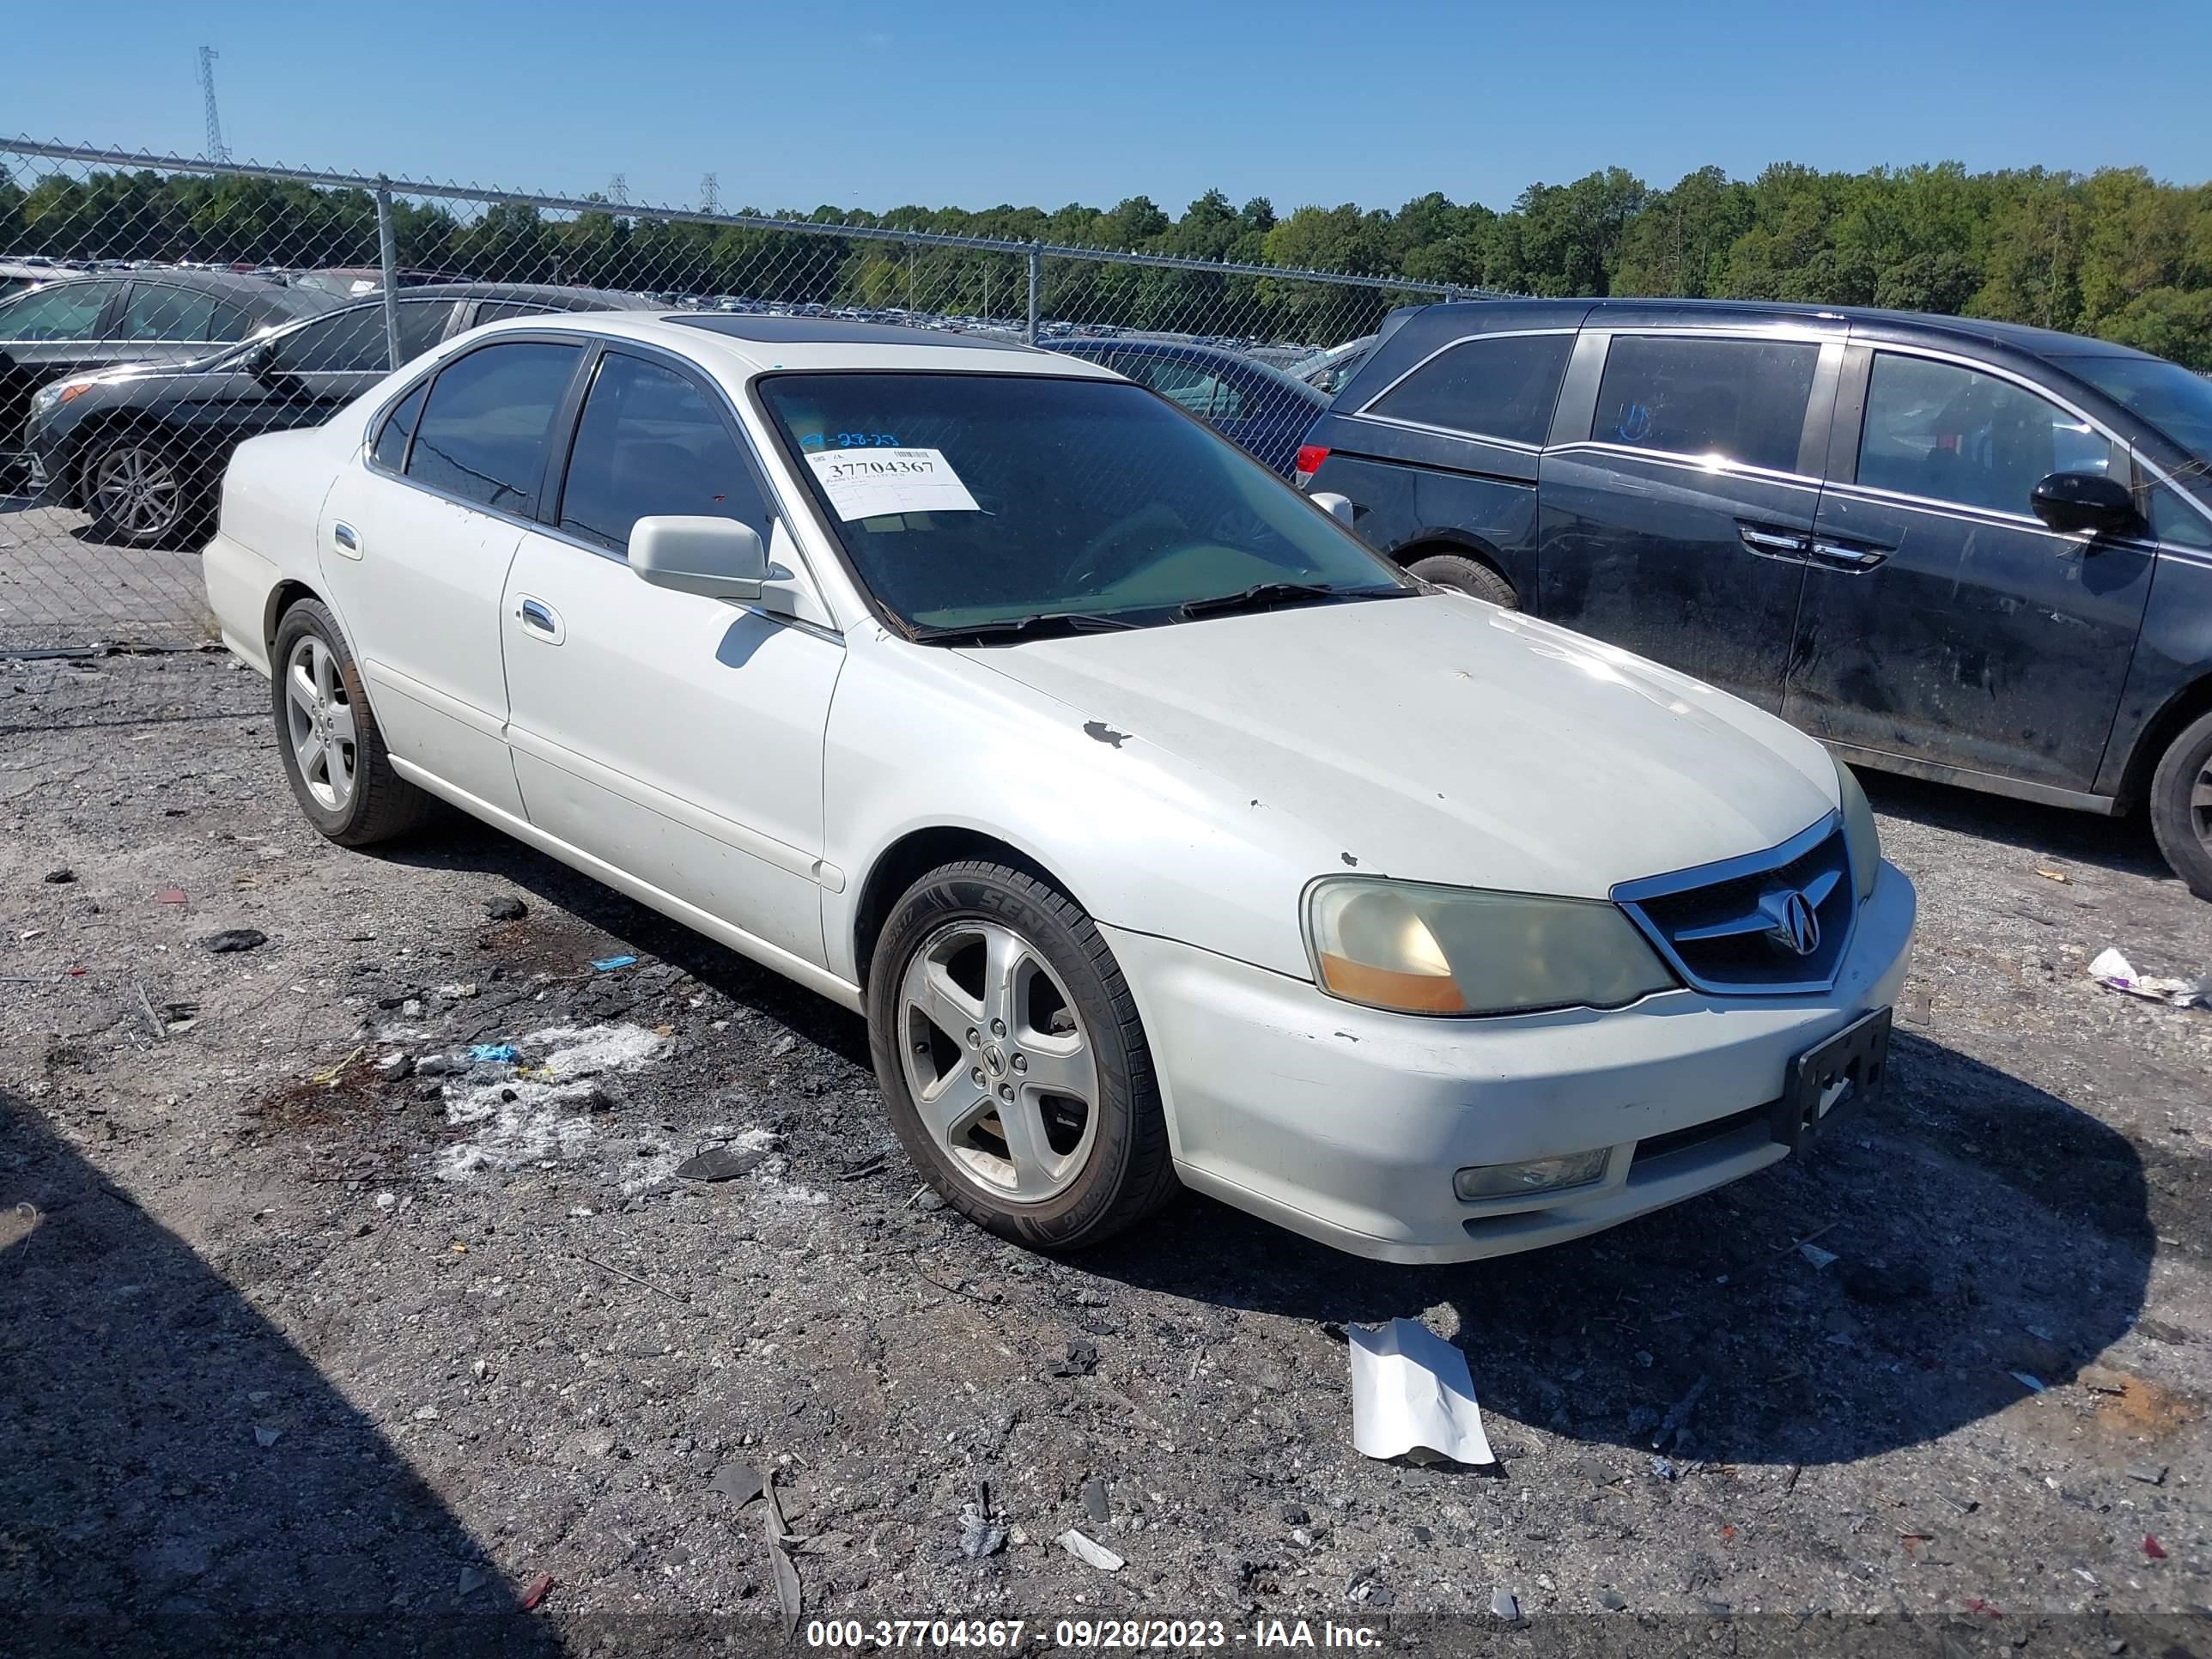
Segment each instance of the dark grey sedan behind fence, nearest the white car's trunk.
[[[641,307],[597,288],[407,288],[396,299],[400,361],[502,316]],[[389,372],[378,294],[181,369],[58,380],[31,400],[29,489],[49,507],[82,507],[104,542],[161,546],[212,520],[232,445],[325,420]]]

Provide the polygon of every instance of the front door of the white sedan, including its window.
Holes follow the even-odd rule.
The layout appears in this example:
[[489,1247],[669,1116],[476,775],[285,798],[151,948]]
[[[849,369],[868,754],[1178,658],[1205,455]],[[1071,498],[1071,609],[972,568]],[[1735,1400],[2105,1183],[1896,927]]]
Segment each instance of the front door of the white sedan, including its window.
[[533,825],[776,951],[823,964],[823,728],[834,635],[639,582],[646,515],[752,524],[799,566],[723,396],[606,349],[557,500],[507,582],[509,741]]

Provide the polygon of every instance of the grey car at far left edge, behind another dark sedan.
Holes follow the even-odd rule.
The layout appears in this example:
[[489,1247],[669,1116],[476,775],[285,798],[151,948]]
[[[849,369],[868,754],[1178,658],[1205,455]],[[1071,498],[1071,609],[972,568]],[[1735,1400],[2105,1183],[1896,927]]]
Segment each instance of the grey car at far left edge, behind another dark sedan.
[[336,303],[215,270],[69,276],[0,301],[0,467],[20,447],[31,394],[49,380],[117,363],[188,363]]

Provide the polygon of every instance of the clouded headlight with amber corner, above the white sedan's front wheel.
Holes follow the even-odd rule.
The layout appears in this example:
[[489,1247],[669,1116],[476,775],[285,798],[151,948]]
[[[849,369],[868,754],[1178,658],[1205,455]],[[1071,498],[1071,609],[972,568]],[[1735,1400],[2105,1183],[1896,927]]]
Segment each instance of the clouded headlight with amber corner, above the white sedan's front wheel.
[[1398,1013],[1619,1009],[1674,975],[1610,902],[1526,898],[1376,876],[1305,896],[1314,980]]

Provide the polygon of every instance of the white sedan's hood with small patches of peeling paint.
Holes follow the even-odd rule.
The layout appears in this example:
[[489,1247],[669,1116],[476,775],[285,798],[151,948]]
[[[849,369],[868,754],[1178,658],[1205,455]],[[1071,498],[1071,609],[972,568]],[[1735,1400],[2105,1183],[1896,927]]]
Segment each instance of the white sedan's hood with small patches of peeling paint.
[[1462,595],[962,655],[1119,761],[1210,779],[1248,834],[1290,814],[1363,874],[1604,898],[1836,807],[1825,750],[1772,714]]

